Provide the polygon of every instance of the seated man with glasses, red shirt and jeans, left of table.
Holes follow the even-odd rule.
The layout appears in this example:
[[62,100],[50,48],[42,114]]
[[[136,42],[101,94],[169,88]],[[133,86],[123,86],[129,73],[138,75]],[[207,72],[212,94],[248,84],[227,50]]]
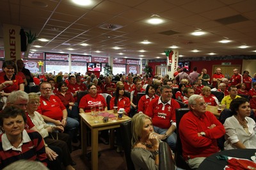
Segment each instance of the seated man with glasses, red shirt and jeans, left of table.
[[44,121],[49,124],[64,127],[64,132],[67,132],[71,139],[76,141],[76,132],[79,122],[73,118],[68,118],[67,109],[60,98],[51,95],[52,88],[49,82],[42,82],[40,84],[40,92],[40,105],[37,111],[42,114]]

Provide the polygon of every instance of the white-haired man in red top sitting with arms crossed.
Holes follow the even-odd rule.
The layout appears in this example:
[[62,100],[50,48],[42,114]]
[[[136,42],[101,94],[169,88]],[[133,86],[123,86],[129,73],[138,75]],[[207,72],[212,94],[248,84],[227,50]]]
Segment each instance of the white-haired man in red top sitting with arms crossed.
[[183,158],[191,169],[197,168],[206,157],[220,151],[217,140],[225,135],[223,125],[209,111],[204,98],[192,95],[188,100],[190,111],[179,124]]

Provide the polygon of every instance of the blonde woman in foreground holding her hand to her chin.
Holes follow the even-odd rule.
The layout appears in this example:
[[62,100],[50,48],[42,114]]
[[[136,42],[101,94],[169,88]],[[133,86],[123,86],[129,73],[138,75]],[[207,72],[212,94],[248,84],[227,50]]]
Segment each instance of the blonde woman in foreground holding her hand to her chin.
[[159,143],[152,120],[143,113],[132,117],[131,158],[135,169],[158,169]]

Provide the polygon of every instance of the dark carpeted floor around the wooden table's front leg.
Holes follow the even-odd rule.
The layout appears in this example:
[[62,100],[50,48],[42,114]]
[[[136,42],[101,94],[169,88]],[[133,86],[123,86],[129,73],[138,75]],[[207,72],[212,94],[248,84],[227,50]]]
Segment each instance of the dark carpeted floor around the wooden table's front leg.
[[[99,170],[127,170],[124,152],[117,153],[116,149],[111,150],[108,145],[103,143],[99,143],[99,152]],[[81,149],[72,151],[71,156],[76,162],[76,166],[74,166],[74,168],[77,170],[91,169],[91,161],[88,160],[87,157],[81,155]]]

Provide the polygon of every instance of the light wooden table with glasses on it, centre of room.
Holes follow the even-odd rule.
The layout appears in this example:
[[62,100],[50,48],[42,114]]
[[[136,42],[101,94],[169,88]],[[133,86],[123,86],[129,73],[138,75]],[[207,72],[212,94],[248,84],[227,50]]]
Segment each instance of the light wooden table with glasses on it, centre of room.
[[[113,110],[104,111],[113,114]],[[87,143],[86,143],[86,127],[89,127],[92,130],[92,169],[98,169],[98,133],[100,130],[110,129],[110,136],[109,136],[109,147],[113,148],[114,146],[114,128],[120,127],[120,123],[131,120],[129,116],[123,116],[122,119],[118,119],[117,114],[115,118],[109,118],[107,123],[103,123],[103,117],[99,116],[99,123],[95,123],[93,120],[93,116],[91,112],[86,113],[79,113],[81,116],[81,148],[82,154],[85,155],[87,153]]]

